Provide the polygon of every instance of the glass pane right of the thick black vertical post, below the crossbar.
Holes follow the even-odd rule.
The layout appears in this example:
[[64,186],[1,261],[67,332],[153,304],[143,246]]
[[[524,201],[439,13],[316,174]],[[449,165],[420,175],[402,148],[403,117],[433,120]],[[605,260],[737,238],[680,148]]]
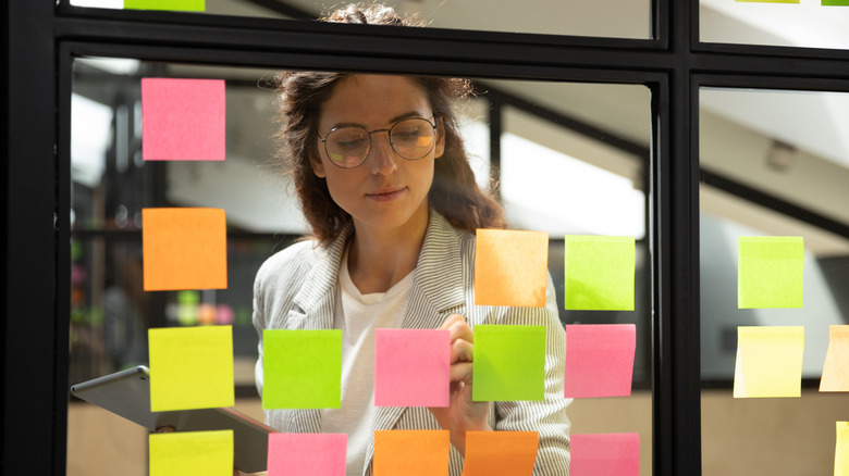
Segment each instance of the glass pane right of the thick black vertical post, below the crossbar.
[[[849,149],[841,134],[847,100],[849,95],[836,92],[700,91],[705,475],[834,472],[835,423],[846,421],[849,397],[846,389],[821,392],[820,383],[829,328],[849,323]],[[738,265],[743,260],[748,270],[751,263],[748,254],[740,258],[740,237],[803,239],[803,277],[797,279],[802,308],[739,308]],[[760,284],[772,289],[789,274],[774,273]],[[788,385],[800,397],[772,398],[788,394],[777,388],[755,393],[762,398],[735,398],[735,381],[738,392],[743,384],[749,391],[752,381],[770,375],[768,364],[746,367],[745,380],[735,375],[752,362],[738,360],[740,352],[750,355],[738,329],[778,326],[803,329],[800,367],[797,362],[780,368],[783,376],[801,376]],[[768,342],[764,352],[789,353]]]

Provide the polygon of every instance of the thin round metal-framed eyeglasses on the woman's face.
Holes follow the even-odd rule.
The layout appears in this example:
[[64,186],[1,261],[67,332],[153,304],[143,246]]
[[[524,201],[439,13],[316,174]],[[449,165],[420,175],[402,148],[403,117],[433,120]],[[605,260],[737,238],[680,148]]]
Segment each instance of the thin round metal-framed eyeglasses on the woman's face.
[[433,123],[424,117],[404,118],[387,129],[366,130],[360,126],[344,126],[330,129],[319,140],[324,142],[324,151],[330,161],[342,168],[354,168],[366,162],[371,153],[371,135],[389,133],[390,146],[402,158],[416,161],[424,158],[436,143],[436,116]]

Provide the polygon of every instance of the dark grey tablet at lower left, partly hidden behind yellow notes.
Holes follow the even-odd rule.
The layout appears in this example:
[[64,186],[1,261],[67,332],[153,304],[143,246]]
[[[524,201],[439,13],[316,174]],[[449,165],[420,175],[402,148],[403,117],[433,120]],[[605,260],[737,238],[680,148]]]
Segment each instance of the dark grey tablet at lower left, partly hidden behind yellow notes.
[[71,387],[71,393],[89,403],[156,431],[171,426],[177,431],[233,430],[233,456],[237,469],[266,471],[268,434],[274,428],[231,408],[150,411],[149,369],[139,365]]

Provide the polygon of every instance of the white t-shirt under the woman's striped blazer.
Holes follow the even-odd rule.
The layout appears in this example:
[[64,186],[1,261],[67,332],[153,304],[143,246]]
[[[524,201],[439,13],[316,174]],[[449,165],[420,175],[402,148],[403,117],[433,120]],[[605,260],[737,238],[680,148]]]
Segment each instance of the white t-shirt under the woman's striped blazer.
[[361,476],[374,421],[374,329],[404,323],[414,273],[386,292],[362,295],[350,280],[347,252],[339,273],[333,327],[342,329],[342,408],[321,411],[321,431],[348,435],[346,476]]

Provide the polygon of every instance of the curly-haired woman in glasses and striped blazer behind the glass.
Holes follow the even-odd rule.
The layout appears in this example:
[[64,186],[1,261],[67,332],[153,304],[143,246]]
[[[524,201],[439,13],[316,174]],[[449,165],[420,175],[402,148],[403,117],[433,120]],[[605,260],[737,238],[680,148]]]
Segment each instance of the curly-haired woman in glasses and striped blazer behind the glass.
[[[352,5],[327,21],[404,25],[385,7]],[[540,433],[534,474],[568,473],[563,398],[564,330],[549,279],[541,309],[476,306],[475,229],[502,227],[502,210],[478,188],[451,101],[466,80],[288,72],[280,75],[279,139],[313,237],[271,256],[257,273],[254,324],[343,331],[342,408],[269,410],[286,433],[348,434],[348,475],[370,475],[373,434],[448,429],[451,474],[465,434]],[[545,325],[543,402],[473,402],[477,324]],[[373,335],[385,327],[444,328],[452,340],[451,405],[373,405]],[[262,342],[257,385],[262,388]]]

